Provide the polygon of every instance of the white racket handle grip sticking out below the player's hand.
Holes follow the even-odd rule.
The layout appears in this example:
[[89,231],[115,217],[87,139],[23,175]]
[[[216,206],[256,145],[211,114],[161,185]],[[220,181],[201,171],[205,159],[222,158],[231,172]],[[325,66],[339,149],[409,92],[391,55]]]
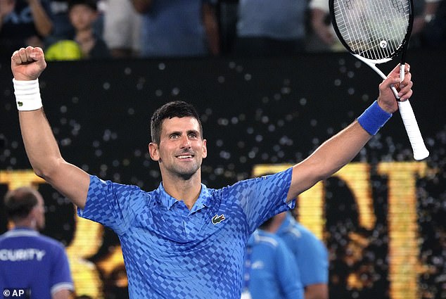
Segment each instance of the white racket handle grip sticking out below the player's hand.
[[424,144],[418,123],[416,122],[414,110],[412,110],[409,100],[398,101],[398,107],[400,108],[400,115],[406,128],[407,136],[409,136],[412,150],[414,151],[414,159],[419,161],[427,158],[429,151]]

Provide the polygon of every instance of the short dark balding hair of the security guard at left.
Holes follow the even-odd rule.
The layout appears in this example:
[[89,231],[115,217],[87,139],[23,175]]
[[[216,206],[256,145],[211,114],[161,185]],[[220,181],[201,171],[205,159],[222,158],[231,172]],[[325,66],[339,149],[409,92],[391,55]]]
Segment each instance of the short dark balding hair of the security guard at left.
[[39,203],[37,191],[31,187],[20,187],[10,190],[4,197],[6,217],[17,221],[30,215],[31,210]]

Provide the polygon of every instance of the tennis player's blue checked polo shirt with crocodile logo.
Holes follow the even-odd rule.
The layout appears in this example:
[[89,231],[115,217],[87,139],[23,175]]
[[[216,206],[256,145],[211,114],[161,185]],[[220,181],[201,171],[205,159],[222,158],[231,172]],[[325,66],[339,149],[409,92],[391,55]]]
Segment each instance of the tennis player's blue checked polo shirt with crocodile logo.
[[202,184],[189,210],[160,184],[151,192],[90,177],[78,214],[119,236],[130,298],[228,298],[241,295],[243,255],[255,229],[286,203],[291,168],[222,189]]

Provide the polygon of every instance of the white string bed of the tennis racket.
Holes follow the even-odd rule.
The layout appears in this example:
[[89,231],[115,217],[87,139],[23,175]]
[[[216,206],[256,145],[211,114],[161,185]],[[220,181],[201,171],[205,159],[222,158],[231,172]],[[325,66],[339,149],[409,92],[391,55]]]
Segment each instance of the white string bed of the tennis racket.
[[406,0],[335,0],[339,33],[350,49],[369,59],[390,58],[402,46],[409,25]]

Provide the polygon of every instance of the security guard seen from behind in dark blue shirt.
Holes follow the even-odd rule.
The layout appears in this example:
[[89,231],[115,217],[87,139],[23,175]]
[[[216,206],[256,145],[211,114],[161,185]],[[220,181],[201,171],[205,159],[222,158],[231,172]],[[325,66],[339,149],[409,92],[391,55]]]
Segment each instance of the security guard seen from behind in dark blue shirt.
[[27,288],[32,298],[70,298],[73,284],[65,248],[38,232],[45,226],[40,193],[30,187],[8,191],[4,205],[13,229],[0,236],[0,289]]

